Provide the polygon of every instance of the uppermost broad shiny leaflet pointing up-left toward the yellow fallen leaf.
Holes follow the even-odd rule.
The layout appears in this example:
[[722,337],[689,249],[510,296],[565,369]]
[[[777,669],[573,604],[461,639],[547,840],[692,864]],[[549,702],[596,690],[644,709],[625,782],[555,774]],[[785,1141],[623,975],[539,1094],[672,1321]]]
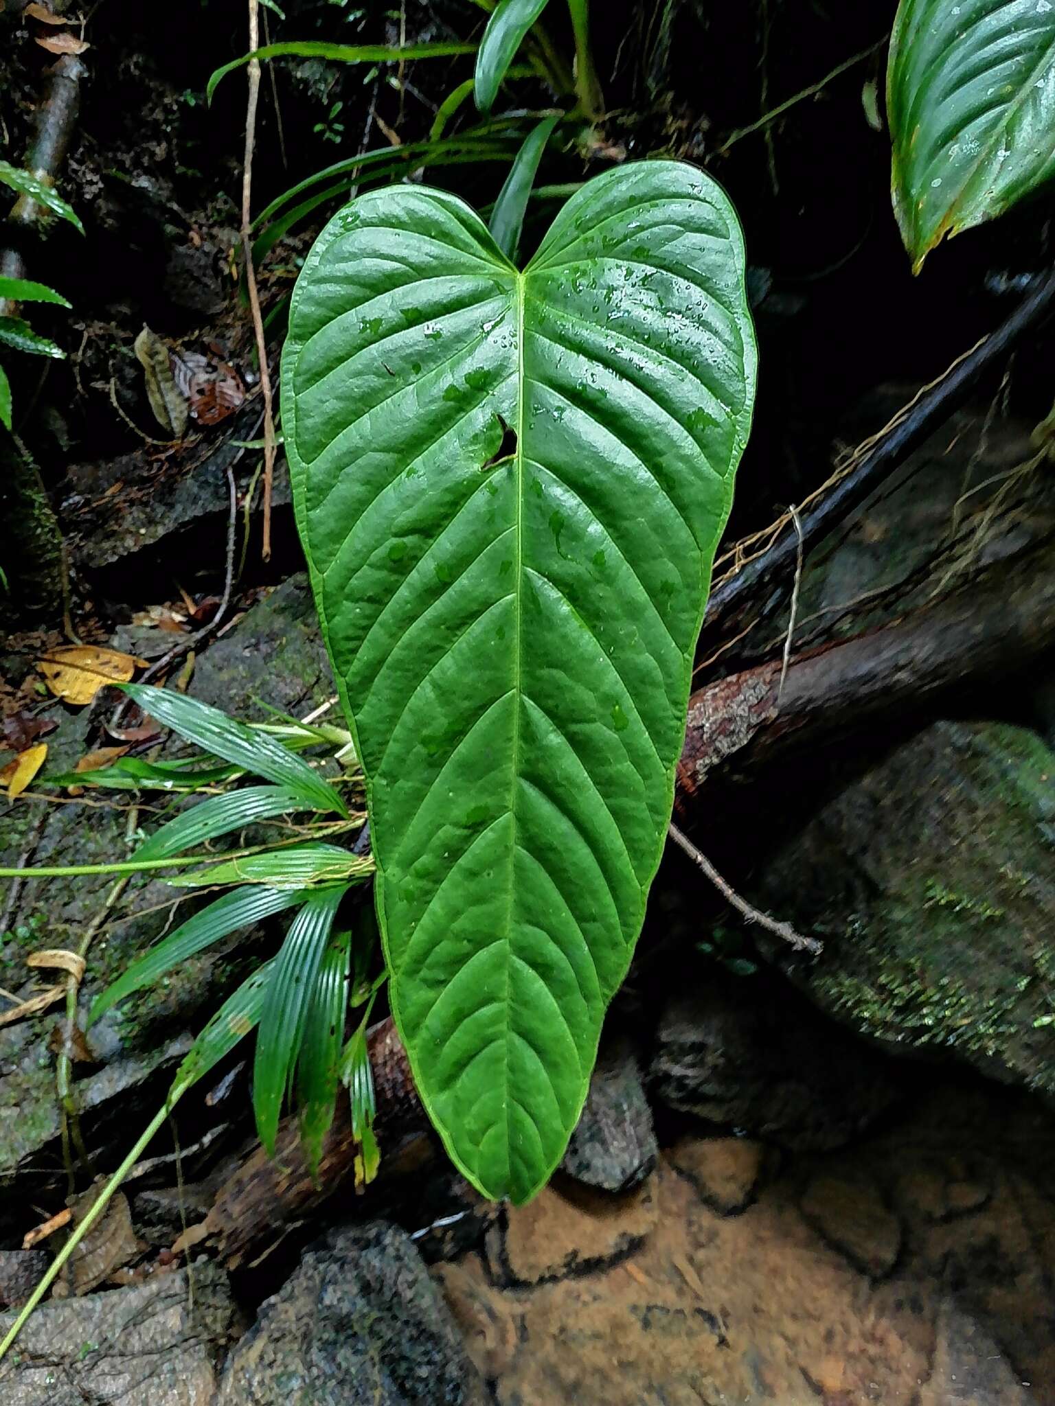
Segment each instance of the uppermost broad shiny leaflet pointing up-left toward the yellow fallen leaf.
[[149,683],[122,683],[121,688],[151,717],[179,733],[187,742],[255,776],[263,776],[276,786],[284,786],[300,796],[307,810],[333,810],[339,815],[347,815],[347,807],[329,782],[302,756],[266,733],[184,693],[155,689]]

